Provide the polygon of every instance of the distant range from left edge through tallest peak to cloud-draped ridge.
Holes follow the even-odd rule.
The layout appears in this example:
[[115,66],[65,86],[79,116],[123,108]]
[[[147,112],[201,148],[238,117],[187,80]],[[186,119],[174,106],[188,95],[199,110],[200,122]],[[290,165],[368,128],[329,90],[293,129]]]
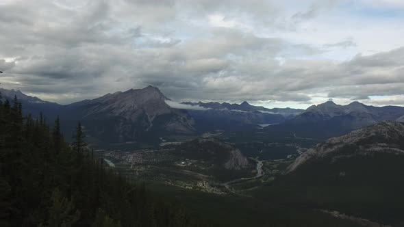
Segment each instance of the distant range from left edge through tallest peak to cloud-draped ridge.
[[105,94],[69,105],[42,101],[16,90],[3,89],[1,94],[8,99],[17,96],[23,103],[25,114],[38,116],[42,112],[49,119],[60,116],[66,133],[74,131],[77,120],[80,120],[88,134],[97,139],[97,142],[133,142],[162,135],[189,135],[214,129],[255,127],[256,124],[283,122],[288,116],[301,111],[289,108],[284,111],[272,110],[255,107],[247,102],[241,105],[228,104],[227,109],[178,109],[168,105],[170,99],[153,86]]

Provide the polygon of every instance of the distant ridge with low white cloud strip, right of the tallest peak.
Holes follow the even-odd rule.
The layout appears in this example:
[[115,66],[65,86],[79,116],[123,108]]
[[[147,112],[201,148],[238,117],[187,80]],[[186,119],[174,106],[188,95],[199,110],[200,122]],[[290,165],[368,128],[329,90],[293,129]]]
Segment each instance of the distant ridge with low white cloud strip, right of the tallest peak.
[[250,105],[247,102],[240,105],[217,102],[184,102],[182,104],[206,108],[205,110],[188,110],[197,122],[196,127],[199,131],[233,130],[245,126],[255,127],[257,124],[279,124],[303,111],[290,108],[267,109]]

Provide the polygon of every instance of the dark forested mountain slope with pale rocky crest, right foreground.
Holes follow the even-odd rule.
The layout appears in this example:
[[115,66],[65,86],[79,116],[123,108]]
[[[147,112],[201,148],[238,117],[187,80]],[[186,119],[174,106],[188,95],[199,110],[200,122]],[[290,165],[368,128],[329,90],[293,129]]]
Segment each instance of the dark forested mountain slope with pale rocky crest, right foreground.
[[379,122],[318,144],[275,182],[312,209],[404,226],[404,123]]

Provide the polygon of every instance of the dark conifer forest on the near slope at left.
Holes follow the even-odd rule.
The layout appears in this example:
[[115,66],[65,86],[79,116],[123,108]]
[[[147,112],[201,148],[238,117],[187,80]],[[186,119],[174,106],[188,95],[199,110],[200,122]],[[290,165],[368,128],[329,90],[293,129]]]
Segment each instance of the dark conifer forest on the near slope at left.
[[0,96],[0,226],[205,226],[105,170],[84,140],[80,124],[67,144],[59,119],[23,118]]

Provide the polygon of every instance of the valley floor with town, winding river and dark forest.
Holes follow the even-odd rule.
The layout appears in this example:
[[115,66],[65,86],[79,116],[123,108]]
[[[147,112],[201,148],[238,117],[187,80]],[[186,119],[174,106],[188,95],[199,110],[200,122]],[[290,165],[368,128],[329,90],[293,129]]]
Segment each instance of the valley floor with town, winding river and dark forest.
[[[369,200],[370,194],[352,198],[346,196],[351,189],[284,185],[282,173],[316,141],[296,137],[268,139],[256,131],[242,133],[219,136],[227,142],[235,142],[254,164],[248,170],[234,170],[220,177],[208,171],[211,163],[173,155],[175,146],[182,144],[173,139],[162,138],[164,146],[160,148],[125,152],[99,150],[97,155],[108,159],[112,170],[120,172],[127,180],[144,181],[155,193],[179,200],[212,226],[345,227],[383,226],[385,223],[386,215],[375,217],[366,213],[366,209],[374,208],[363,205],[364,212],[356,212],[362,207],[361,201],[369,201],[369,207],[377,205]],[[349,209],[351,205],[356,210]]]

